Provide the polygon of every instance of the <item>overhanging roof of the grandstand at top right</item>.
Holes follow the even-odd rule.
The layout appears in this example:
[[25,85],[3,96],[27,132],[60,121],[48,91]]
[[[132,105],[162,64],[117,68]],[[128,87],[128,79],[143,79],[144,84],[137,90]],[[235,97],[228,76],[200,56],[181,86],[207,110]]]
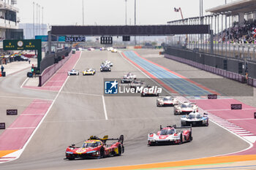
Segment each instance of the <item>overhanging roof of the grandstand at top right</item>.
[[255,12],[256,0],[238,0],[233,1],[218,7],[213,7],[211,9],[206,9],[206,12],[221,13],[221,12],[231,12],[231,15],[238,15],[238,13],[249,13]]

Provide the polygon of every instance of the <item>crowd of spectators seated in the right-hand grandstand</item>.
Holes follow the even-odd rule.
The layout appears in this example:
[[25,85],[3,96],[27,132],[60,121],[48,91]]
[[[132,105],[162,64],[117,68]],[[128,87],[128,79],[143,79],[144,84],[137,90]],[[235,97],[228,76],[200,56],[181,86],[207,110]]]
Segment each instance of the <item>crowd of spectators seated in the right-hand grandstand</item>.
[[215,41],[236,44],[256,44],[256,20],[245,20],[244,26],[233,23],[231,28],[215,36]]

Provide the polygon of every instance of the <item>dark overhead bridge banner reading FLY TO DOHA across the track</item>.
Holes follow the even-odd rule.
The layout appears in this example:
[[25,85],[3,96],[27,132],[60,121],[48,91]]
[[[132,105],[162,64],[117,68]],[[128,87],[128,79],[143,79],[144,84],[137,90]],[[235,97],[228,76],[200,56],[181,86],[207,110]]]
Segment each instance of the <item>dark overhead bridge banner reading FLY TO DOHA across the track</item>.
[[170,36],[172,34],[211,34],[209,25],[186,26],[52,26],[56,36]]

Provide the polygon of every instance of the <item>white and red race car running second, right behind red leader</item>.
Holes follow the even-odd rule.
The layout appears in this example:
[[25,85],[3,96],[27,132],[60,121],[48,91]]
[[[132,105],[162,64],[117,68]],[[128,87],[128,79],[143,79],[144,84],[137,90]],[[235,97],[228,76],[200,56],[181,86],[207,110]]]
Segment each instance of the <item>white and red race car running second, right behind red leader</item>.
[[160,125],[160,131],[157,134],[148,134],[148,145],[182,144],[184,142],[191,142],[192,139],[191,126],[176,127],[176,125],[170,125],[162,128],[162,125]]

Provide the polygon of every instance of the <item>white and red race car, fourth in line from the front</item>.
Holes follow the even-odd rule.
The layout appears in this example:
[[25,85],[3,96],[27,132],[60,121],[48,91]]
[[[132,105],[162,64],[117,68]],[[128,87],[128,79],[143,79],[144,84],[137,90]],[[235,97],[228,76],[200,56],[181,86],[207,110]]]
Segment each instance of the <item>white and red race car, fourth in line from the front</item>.
[[198,112],[198,107],[195,103],[184,101],[181,104],[174,105],[174,115],[189,114],[191,112]]

